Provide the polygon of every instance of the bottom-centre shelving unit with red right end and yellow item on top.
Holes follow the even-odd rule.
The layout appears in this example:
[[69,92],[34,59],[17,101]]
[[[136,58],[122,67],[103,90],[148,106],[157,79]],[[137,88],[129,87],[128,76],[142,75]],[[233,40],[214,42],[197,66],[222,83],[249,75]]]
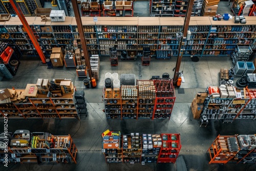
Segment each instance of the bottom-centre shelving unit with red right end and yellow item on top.
[[180,134],[102,133],[106,163],[175,163],[180,149]]

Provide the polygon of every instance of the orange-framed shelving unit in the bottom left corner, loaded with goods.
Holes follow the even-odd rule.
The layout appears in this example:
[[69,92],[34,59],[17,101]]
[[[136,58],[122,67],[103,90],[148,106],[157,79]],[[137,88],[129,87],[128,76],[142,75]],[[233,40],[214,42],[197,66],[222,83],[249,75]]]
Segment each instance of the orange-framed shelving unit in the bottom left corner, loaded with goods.
[[[27,137],[23,137],[23,133],[27,133]],[[22,147],[21,140],[25,141]],[[44,132],[17,130],[10,142],[8,151],[11,152],[11,162],[76,163],[78,150],[70,135],[56,136]]]

